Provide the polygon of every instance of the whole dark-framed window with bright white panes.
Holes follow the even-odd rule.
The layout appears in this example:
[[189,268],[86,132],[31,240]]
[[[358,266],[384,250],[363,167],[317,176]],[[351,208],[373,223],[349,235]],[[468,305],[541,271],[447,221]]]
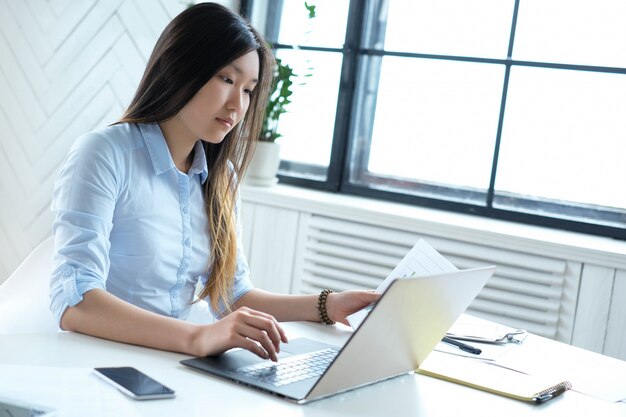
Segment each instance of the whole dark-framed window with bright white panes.
[[281,181],[626,239],[626,3],[244,2],[299,74]]

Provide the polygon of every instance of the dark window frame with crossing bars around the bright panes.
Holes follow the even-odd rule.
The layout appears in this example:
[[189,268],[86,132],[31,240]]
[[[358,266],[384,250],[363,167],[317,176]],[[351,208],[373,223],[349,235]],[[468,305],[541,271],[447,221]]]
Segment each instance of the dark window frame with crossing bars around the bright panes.
[[[273,7],[281,7],[284,0],[273,0],[271,3]],[[335,127],[333,133],[333,141],[331,148],[331,158],[326,170],[325,167],[316,167],[309,164],[296,163],[292,161],[281,161],[281,171],[279,172],[279,180],[284,184],[291,184],[295,186],[301,186],[311,189],[323,190],[334,193],[362,196],[367,198],[380,199],[385,201],[394,201],[403,204],[416,205],[426,208],[434,208],[446,211],[452,211],[457,213],[465,213],[478,215],[482,217],[512,221],[516,223],[524,223],[529,225],[544,226],[549,228],[555,228],[565,231],[573,231],[579,233],[585,233],[590,235],[604,236],[619,240],[626,240],[626,225],[620,226],[619,223],[615,223],[616,226],[609,226],[606,224],[600,224],[594,221],[594,210],[590,207],[584,207],[583,205],[571,204],[571,206],[564,206],[553,204],[550,201],[542,201],[541,199],[523,199],[519,203],[523,203],[530,211],[532,207],[541,207],[547,212],[561,211],[561,217],[543,216],[536,213],[506,210],[498,207],[494,207],[495,198],[495,181],[498,167],[498,157],[500,152],[500,143],[502,139],[502,126],[504,122],[504,114],[507,103],[507,92],[509,84],[509,76],[511,68],[513,66],[521,67],[537,67],[537,68],[549,68],[549,69],[561,69],[561,70],[576,70],[576,71],[588,71],[588,72],[600,72],[600,73],[614,73],[626,75],[626,68],[619,67],[603,67],[592,65],[576,65],[576,64],[561,64],[550,62],[533,62],[533,61],[521,61],[512,59],[513,45],[515,40],[515,32],[517,25],[518,10],[521,0],[515,0],[514,10],[512,16],[511,33],[509,37],[509,45],[506,59],[495,58],[476,58],[468,56],[450,56],[450,55],[436,55],[436,54],[423,54],[423,53],[411,53],[411,52],[397,52],[387,51],[382,49],[370,49],[364,45],[367,36],[372,36],[371,33],[365,33],[365,23],[367,19],[368,11],[371,11],[372,7],[376,7],[382,3],[382,0],[349,0],[349,12],[348,22],[346,28],[345,43],[342,48],[323,48],[323,47],[311,47],[311,46],[297,46],[302,51],[326,51],[326,52],[340,52],[343,54]],[[252,10],[254,0],[242,0],[241,13],[245,17],[249,18],[250,11]],[[270,16],[268,20],[270,23],[266,30],[266,36],[268,41],[274,48],[279,49],[293,49],[296,45],[280,44],[272,42],[272,38],[276,38],[277,25],[280,22],[279,16]],[[272,26],[273,25],[273,26]],[[486,195],[479,196],[484,199],[482,204],[473,204],[471,202],[459,202],[458,199],[446,199],[445,195],[453,196],[455,194],[472,193],[472,191],[465,191],[459,188],[446,188],[445,190],[437,190],[437,186],[429,186],[423,183],[411,182],[412,187],[418,187],[421,189],[429,189],[432,187],[433,191],[438,191],[437,198],[425,197],[424,195],[416,195],[408,192],[398,192],[395,190],[385,189],[384,184],[380,187],[376,186],[363,186],[353,184],[349,181],[349,175],[353,167],[351,166],[350,155],[352,151],[353,143],[351,138],[354,137],[354,130],[357,128],[352,121],[355,120],[355,114],[357,112],[356,97],[358,93],[357,84],[359,82],[357,74],[359,74],[361,61],[363,57],[383,57],[383,56],[398,56],[407,58],[424,58],[433,60],[447,60],[447,61],[465,61],[476,63],[487,63],[503,65],[505,67],[504,82],[502,88],[502,98],[500,113],[498,117],[497,136],[495,139],[493,161],[491,167],[491,177],[489,181],[489,188]],[[371,140],[371,138],[370,138]],[[286,175],[285,172],[294,173],[293,175]],[[307,173],[306,175],[298,175],[297,172]],[[318,179],[314,179],[317,177]],[[325,180],[319,178],[326,177]],[[380,177],[372,176],[373,184],[375,182],[381,182]],[[391,184],[402,183],[401,180],[389,179]],[[384,183],[384,181],[382,181]],[[443,191],[443,192],[442,192]],[[465,194],[470,195],[470,194]],[[480,194],[480,193],[479,193]],[[470,196],[471,197],[471,196]],[[506,197],[500,197],[506,198]],[[511,197],[511,200],[515,197]],[[471,198],[470,198],[471,200]],[[597,210],[596,210],[597,211]],[[568,217],[576,217],[576,214],[580,216],[581,213],[586,213],[585,219],[588,221],[574,220]],[[605,213],[602,211],[602,213]],[[610,217],[610,213],[606,212],[607,217]],[[571,215],[570,215],[571,214]],[[618,221],[623,221],[624,215],[616,213],[615,217]],[[608,222],[610,219],[603,218],[602,221]]]

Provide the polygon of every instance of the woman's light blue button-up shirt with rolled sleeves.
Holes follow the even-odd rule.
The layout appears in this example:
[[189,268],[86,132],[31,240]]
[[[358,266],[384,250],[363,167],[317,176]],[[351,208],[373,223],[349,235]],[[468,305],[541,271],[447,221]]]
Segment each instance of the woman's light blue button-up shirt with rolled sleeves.
[[[201,142],[189,173],[181,173],[158,124],[119,124],[81,136],[52,199],[50,308],[57,320],[94,288],[185,319],[210,267],[202,190],[207,175]],[[239,208],[237,196],[233,301],[252,289]]]

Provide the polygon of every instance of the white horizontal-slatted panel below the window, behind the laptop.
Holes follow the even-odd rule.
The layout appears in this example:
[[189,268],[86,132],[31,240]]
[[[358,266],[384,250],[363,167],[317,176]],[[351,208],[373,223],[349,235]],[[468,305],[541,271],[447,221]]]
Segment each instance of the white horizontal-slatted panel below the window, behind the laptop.
[[300,221],[294,292],[375,288],[421,237],[459,269],[497,266],[469,313],[557,340],[571,337],[575,300],[564,293],[577,286],[578,263],[319,215]]

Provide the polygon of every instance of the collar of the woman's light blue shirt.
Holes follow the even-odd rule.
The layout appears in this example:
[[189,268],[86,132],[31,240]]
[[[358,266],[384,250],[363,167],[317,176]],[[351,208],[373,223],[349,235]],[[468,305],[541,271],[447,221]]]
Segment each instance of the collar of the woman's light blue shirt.
[[[170,154],[170,150],[165,142],[163,132],[158,123],[142,124],[139,123],[139,130],[143,136],[148,154],[152,160],[152,166],[154,172],[160,175],[171,169],[176,169],[174,160]],[[204,153],[204,147],[202,141],[198,140],[194,145],[194,156],[191,168],[189,169],[189,175],[200,175],[200,181],[204,183],[209,175],[209,171],[206,163],[206,154]]]

